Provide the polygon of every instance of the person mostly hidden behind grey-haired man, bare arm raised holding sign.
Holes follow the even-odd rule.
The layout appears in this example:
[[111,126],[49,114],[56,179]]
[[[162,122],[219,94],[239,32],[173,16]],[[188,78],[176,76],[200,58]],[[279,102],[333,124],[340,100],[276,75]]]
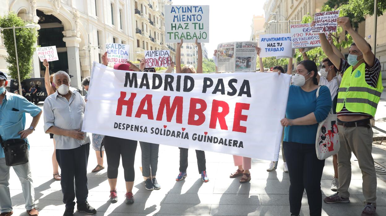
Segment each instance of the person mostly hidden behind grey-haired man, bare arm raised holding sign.
[[[46,71],[44,73],[44,84],[46,86],[46,91],[47,91],[47,96],[52,95],[56,92],[55,84],[54,84],[54,75],[52,74],[51,76],[49,75],[49,63],[45,59],[43,60],[43,65],[46,67]],[[55,180],[60,181],[61,176],[59,174],[59,164],[58,161],[56,160],[56,143],[54,139],[54,134],[50,133],[49,134],[50,138],[54,142],[54,152],[52,153],[52,169],[53,169],[53,177]]]

